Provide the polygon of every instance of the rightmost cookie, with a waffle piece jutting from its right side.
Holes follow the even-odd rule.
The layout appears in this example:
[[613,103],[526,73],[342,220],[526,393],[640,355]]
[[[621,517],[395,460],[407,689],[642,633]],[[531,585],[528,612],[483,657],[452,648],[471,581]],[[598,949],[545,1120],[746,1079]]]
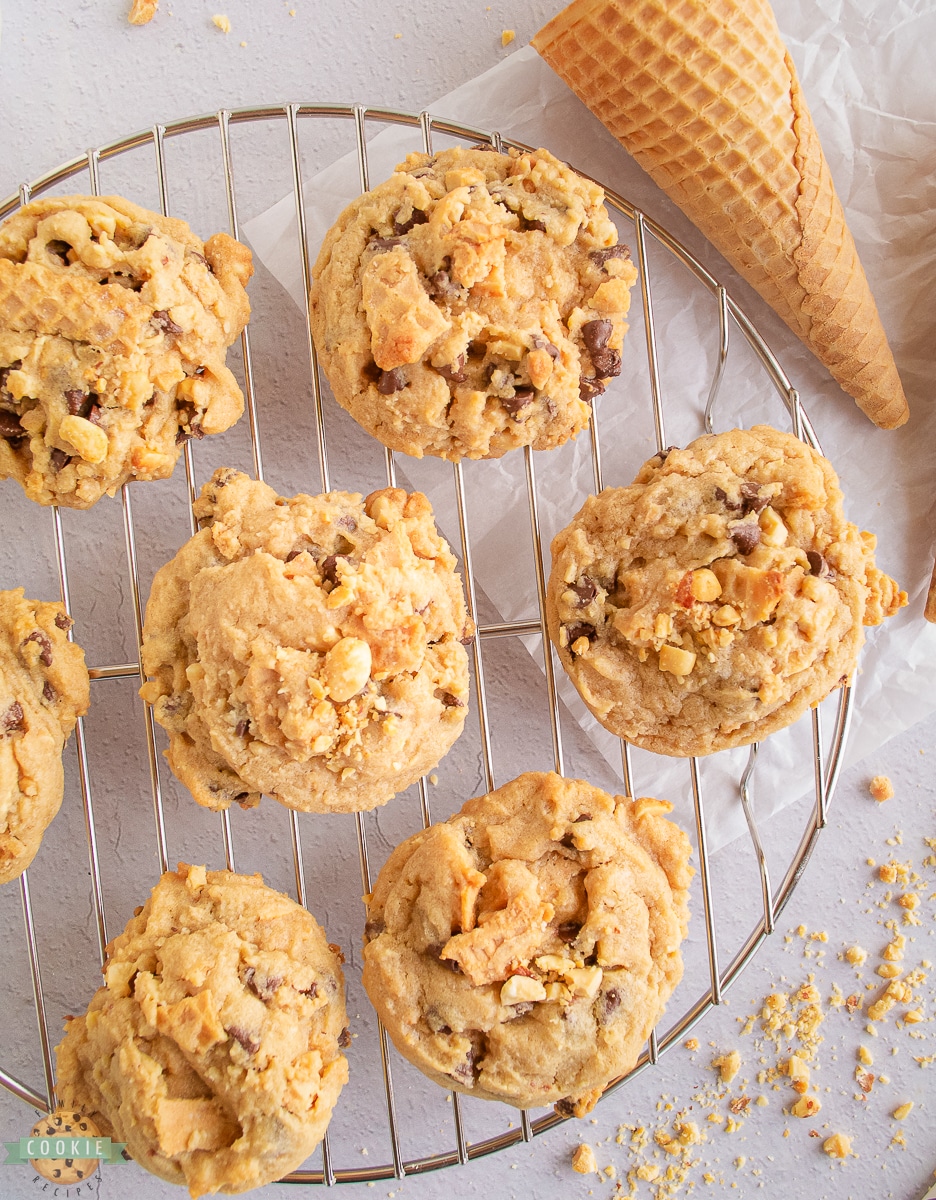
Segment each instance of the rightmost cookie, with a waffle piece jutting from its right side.
[[550,637],[598,720],[658,754],[757,742],[906,604],[832,464],[768,426],[698,438],[590,497],[552,544]]

